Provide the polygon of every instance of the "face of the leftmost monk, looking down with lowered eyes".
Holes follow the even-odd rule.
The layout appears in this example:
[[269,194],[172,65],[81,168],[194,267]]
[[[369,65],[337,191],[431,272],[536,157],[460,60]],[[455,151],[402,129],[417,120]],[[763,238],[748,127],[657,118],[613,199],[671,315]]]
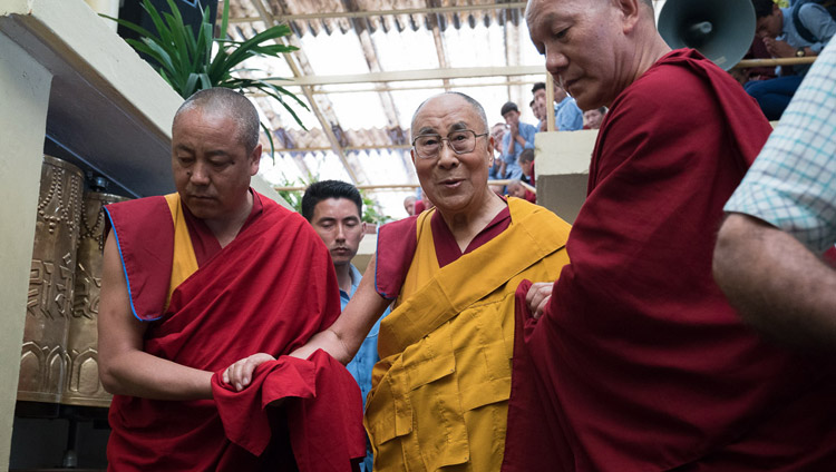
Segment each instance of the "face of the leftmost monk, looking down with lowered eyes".
[[172,128],[174,184],[188,210],[201,219],[232,219],[246,205],[261,145],[247,154],[236,129],[232,118],[201,108],[182,112]]

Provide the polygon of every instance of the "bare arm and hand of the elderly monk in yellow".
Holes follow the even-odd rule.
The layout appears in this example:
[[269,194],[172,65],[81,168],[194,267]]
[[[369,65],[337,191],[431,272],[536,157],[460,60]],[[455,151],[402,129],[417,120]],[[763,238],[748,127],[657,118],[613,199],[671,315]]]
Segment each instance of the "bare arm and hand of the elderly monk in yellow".
[[[391,301],[383,298],[375,289],[375,256],[372,256],[357,292],[346,305],[342,314],[330,327],[314,334],[305,345],[290,355],[308,358],[317,350],[322,350],[342,364],[348,364],[390,303]],[[273,356],[265,353],[242,358],[224,371],[223,380],[234,385],[236,390],[243,390],[250,385],[255,367],[271,360]]]

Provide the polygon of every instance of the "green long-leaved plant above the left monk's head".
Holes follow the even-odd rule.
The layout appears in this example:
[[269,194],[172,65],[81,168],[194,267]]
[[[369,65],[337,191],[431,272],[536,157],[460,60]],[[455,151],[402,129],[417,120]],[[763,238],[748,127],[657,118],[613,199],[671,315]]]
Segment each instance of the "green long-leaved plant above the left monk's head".
[[[291,108],[295,102],[305,110],[308,106],[284,87],[279,87],[270,80],[284,80],[278,77],[243,78],[233,72],[262,72],[260,69],[244,69],[242,62],[252,57],[279,57],[282,53],[295,51],[299,48],[285,46],[274,40],[291,33],[286,24],[269,28],[245,41],[233,41],[225,37],[230,21],[230,2],[224,1],[220,35],[215,37],[214,26],[210,21],[208,7],[203,10],[203,19],[197,33],[192,27],[184,24],[183,17],[174,3],[167,0],[171,12],[159,12],[150,0],[143,0],[143,9],[154,22],[156,35],[130,21],[120,20],[103,14],[137,32],[140,40],[126,39],[138,52],[145,53],[158,65],[157,71],[174,90],[183,98],[188,98],[197,90],[213,87],[225,87],[239,91],[259,90],[278,100],[293,119],[304,128],[297,112]],[[216,46],[214,56],[213,47]],[[262,129],[270,140],[271,154],[273,146],[272,132],[262,124]]]

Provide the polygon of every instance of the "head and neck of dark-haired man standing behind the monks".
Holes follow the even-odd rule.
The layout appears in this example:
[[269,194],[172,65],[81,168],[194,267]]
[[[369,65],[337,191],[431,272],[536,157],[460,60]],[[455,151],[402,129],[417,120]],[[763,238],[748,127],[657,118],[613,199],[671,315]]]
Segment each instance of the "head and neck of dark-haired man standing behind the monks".
[[337,271],[337,282],[347,293],[352,285],[351,259],[366,233],[362,205],[357,187],[340,180],[313,183],[302,196],[302,216],[325,243]]

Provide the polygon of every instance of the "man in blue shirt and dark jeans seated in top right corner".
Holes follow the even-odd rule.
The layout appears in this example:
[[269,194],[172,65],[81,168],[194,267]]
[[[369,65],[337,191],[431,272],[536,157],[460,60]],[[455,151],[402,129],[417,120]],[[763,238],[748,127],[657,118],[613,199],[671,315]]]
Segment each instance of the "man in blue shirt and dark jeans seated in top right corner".
[[[818,56],[836,33],[836,21],[816,2],[798,7],[795,11],[797,22],[794,19],[795,7],[779,8],[772,0],[752,0],[752,6],[757,17],[755,32],[764,38],[764,43],[772,57]],[[789,105],[808,69],[809,66],[794,66],[795,75],[786,75],[786,70],[781,70],[780,77],[754,80],[746,83],[745,88],[758,100],[764,115],[770,120],[777,120]]]

